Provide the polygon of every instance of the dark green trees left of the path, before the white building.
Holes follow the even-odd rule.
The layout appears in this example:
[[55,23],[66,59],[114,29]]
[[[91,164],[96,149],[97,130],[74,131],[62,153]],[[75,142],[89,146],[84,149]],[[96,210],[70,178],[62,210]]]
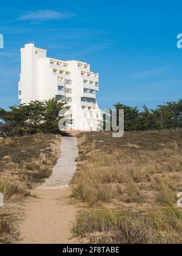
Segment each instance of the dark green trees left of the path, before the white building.
[[0,108],[1,137],[32,135],[37,132],[61,133],[58,128],[59,111],[69,107],[55,98],[49,101],[32,101],[29,104],[15,105],[10,111]]

